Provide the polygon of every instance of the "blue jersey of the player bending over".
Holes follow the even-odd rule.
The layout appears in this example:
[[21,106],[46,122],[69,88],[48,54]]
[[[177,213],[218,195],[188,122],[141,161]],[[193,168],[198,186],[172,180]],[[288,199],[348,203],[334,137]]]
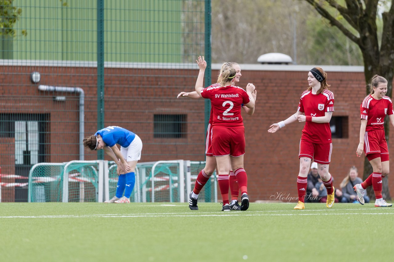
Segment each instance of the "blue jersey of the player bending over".
[[128,147],[136,137],[136,134],[120,126],[108,126],[96,132],[95,136],[100,135],[106,146],[113,147],[119,144]]

